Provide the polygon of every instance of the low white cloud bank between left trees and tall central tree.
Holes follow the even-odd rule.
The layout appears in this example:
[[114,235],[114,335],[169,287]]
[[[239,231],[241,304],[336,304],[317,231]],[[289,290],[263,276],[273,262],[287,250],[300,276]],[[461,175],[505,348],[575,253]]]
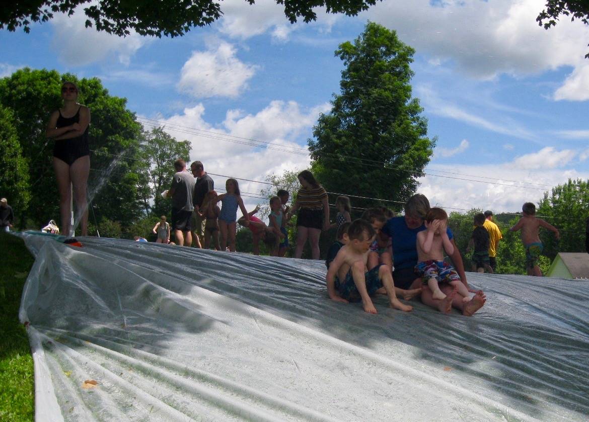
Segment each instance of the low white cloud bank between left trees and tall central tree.
[[[307,168],[309,155],[305,138],[300,138],[310,131],[319,113],[329,108],[321,104],[305,110],[293,101],[272,101],[256,114],[229,110],[223,123],[214,127],[204,119],[204,106],[198,104],[158,121],[176,139],[191,142],[191,160],[202,161],[205,171],[216,174],[212,176],[216,187],[223,188],[227,177],[236,177],[242,192],[258,194],[267,186],[239,178],[264,181],[272,173]],[[272,145],[266,148],[264,142]],[[245,195],[243,200],[248,210],[262,201]]]

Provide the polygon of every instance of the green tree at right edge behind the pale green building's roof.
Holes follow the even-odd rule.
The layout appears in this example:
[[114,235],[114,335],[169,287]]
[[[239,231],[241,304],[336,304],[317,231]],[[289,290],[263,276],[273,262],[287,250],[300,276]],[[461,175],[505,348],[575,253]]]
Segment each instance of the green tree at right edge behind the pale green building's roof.
[[550,231],[540,232],[544,254],[551,261],[558,252],[583,252],[585,220],[589,215],[589,180],[569,179],[566,184],[552,188],[550,195],[544,192],[536,214],[545,215],[544,220],[560,231],[559,241]]

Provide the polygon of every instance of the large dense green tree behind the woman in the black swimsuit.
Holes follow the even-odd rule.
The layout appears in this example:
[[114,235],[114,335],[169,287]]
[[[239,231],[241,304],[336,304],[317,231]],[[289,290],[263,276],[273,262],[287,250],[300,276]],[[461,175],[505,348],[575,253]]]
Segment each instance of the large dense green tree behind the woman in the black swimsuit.
[[[77,82],[78,101],[91,109],[89,129],[91,171],[88,196],[91,221],[118,221],[125,228],[141,216],[138,186],[143,184],[142,165],[136,160],[140,125],[125,107],[127,100],[111,97],[99,79],[78,79],[57,71],[23,68],[0,79],[0,105],[11,110],[14,128],[28,161],[31,178],[28,210],[22,220],[42,227],[59,215],[59,201],[52,168],[52,141],[45,138],[45,125],[52,110],[61,107],[61,85]],[[146,182],[145,182],[146,184]]]

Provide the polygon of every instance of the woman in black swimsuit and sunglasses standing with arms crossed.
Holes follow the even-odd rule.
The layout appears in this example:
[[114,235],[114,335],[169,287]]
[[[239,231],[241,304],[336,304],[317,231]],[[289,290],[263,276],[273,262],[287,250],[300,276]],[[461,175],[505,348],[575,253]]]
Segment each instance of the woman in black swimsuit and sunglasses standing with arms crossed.
[[[72,82],[64,82],[61,87],[64,107],[55,110],[49,118],[47,137],[55,139],[53,148],[53,167],[59,190],[59,214],[62,233],[70,233],[71,188],[74,191],[76,221],[80,221],[82,236],[88,235],[88,203],[86,191],[90,174],[90,147],[88,146],[88,126],[90,109],[80,105],[78,87]],[[70,188],[71,186],[71,188]]]

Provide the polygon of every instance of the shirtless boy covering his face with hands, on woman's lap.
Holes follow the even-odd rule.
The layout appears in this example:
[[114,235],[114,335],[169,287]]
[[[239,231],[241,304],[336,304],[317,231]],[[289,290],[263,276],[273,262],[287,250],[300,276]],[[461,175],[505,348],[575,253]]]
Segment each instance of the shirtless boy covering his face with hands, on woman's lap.
[[434,207],[428,211],[425,216],[427,230],[417,234],[418,263],[415,272],[422,275],[423,284],[428,285],[434,299],[446,298],[438,283],[448,283],[458,289],[458,294],[464,297],[462,301],[468,302],[471,300],[468,288],[462,283],[456,270],[444,262],[444,251],[448,255],[454,252],[454,245],[446,232],[447,225],[448,214],[442,208]]

